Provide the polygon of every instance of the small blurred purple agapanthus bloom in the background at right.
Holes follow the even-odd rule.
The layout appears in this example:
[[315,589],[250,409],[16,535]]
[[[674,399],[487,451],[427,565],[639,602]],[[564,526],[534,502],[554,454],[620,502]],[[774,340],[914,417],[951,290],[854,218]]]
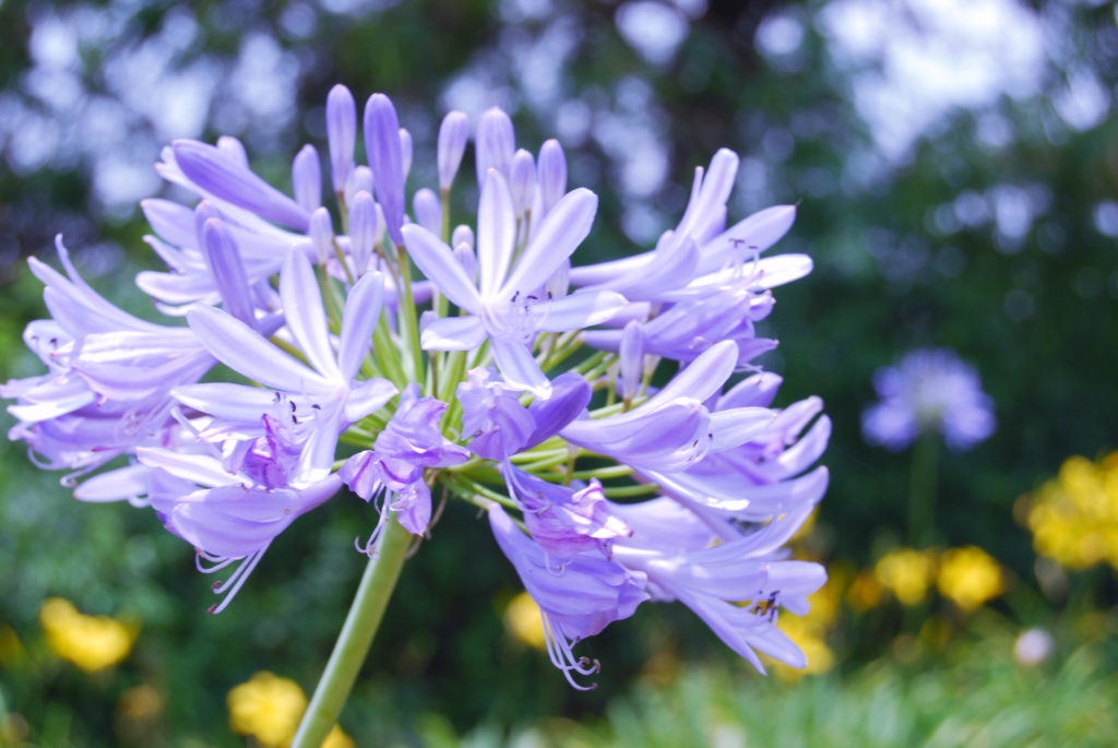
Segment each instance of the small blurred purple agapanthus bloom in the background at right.
[[968,449],[994,433],[994,401],[974,368],[947,349],[907,353],[896,367],[878,369],[873,388],[881,400],[862,416],[872,444],[899,451],[939,432],[953,449]]

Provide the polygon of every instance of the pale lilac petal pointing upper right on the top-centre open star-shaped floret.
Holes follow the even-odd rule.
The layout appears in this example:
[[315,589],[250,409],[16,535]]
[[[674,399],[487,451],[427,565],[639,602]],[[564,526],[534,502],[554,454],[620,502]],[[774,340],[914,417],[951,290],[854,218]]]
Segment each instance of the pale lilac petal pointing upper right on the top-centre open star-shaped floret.
[[590,190],[580,187],[565,195],[543,218],[500,295],[511,299],[517,291],[542,287],[590,233],[597,211],[598,196]]

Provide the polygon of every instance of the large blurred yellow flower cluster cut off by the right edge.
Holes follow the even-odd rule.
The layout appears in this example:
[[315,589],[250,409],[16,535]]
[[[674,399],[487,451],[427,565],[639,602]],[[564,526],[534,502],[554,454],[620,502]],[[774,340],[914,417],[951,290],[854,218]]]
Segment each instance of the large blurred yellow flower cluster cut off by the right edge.
[[1107,561],[1118,569],[1118,452],[1093,463],[1070,457],[1052,481],[1025,496],[1033,547],[1069,569]]

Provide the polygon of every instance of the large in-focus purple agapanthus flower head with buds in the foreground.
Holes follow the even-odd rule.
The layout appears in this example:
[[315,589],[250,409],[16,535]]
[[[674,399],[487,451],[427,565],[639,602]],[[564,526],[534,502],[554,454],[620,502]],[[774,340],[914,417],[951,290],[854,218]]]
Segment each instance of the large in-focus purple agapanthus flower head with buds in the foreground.
[[25,340],[46,371],[0,388],[11,438],[78,499],[151,506],[201,571],[231,568],[215,610],[348,486],[373,558],[388,522],[426,537],[436,495],[486,510],[576,688],[598,667],[577,643],[648,600],[688,606],[758,670],[757,652],[803,665],[776,619],[825,580],[785,546],[826,489],[831,423],[815,397],[774,407],[780,378],[756,362],[773,290],[812,269],[764,256],[795,208],[730,224],[722,150],[653,248],[576,265],[598,198],[568,189],[558,142],[519,148],[485,112],[476,220],[452,226],[470,119],[446,115],[438,183],[409,191],[392,102],[358,114],[335,86],[329,162],[303,146],[291,196],[235,139],[163,151],[158,172],[197,201],[142,205],[167,267],[136,284],[160,323],[93,291],[60,238],[65,273],[32,259],[50,315]]

